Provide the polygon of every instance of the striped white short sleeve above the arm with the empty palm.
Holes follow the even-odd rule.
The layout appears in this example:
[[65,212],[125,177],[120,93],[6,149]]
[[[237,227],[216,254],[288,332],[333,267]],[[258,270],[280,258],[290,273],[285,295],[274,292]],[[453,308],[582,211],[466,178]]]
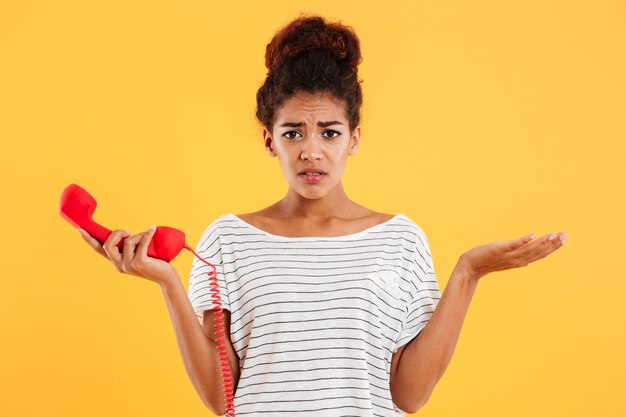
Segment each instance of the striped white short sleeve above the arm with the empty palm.
[[408,268],[409,295],[394,352],[409,343],[426,327],[441,298],[428,240],[419,227],[415,239]]

